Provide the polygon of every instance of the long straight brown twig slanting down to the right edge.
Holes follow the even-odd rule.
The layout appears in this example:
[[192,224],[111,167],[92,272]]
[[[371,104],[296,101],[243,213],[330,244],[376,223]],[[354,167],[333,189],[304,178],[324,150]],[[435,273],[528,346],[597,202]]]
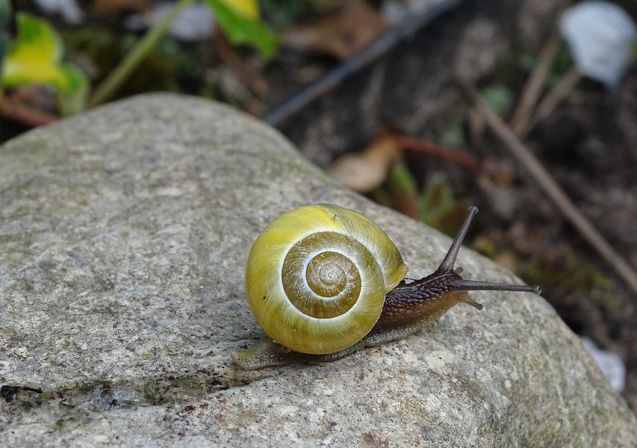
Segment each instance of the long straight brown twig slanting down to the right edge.
[[490,129],[495,132],[496,136],[505,144],[506,148],[533,176],[540,188],[547,193],[548,197],[555,202],[557,208],[571,221],[571,223],[579,230],[584,239],[593,246],[608,262],[615,272],[619,274],[627,285],[637,294],[637,272],[622,258],[622,256],[612,248],[608,241],[601,235],[598,230],[590,223],[590,221],[580,212],[575,204],[571,202],[564,190],[557,185],[557,182],[540,164],[531,151],[526,148],[524,143],[513,134],[513,131],[489,109],[489,106],[480,98],[475,88],[464,86],[471,100],[484,116]]

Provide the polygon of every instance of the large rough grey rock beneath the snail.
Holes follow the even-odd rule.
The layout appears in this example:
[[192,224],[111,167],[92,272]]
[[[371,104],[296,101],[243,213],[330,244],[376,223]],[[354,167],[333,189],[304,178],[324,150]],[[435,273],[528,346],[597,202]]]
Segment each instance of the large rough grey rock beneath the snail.
[[[146,95],[29,132],[0,161],[0,381],[43,389],[0,405],[5,445],[637,446],[633,414],[533,295],[472,293],[482,312],[333,363],[234,368],[262,335],[243,265],[283,211],[361,211],[410,277],[450,243],[253,118]],[[515,281],[464,249],[457,265]]]

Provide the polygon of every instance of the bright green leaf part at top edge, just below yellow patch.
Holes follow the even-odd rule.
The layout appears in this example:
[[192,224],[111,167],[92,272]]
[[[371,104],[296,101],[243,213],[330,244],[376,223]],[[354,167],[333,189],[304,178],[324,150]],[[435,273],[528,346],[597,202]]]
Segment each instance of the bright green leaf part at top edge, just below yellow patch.
[[266,25],[241,15],[221,0],[206,0],[206,3],[215,13],[219,26],[231,43],[254,46],[266,58],[274,55],[278,38]]

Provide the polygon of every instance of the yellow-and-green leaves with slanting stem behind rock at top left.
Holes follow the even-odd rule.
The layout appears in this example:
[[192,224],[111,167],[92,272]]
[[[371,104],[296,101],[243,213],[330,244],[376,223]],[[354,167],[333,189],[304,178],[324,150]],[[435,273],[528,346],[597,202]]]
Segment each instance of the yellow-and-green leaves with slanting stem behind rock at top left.
[[[0,85],[17,88],[44,83],[55,88],[59,113],[71,115],[86,106],[96,106],[110,98],[132,71],[157,45],[172,20],[194,0],[177,1],[166,18],[155,25],[131,48],[119,66],[99,85],[89,99],[90,83],[78,67],[64,62],[64,44],[46,20],[28,13],[16,14],[17,33],[13,41],[0,36]],[[272,57],[278,38],[261,22],[256,0],[205,0],[217,23],[234,45],[249,45],[265,58]],[[0,0],[0,27],[10,17],[10,4]]]

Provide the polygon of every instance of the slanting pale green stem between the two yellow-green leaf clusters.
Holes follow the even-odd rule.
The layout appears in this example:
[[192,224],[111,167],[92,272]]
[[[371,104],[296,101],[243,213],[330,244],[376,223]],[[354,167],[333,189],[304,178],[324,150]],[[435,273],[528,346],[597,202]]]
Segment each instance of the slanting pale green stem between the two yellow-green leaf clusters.
[[159,38],[166,32],[171,22],[179,15],[183,9],[195,0],[179,0],[173,5],[166,17],[159,24],[155,25],[148,31],[138,44],[125,55],[122,62],[119,63],[113,71],[106,77],[102,83],[97,86],[94,94],[90,97],[88,107],[92,108],[109,99],[122,83],[130,76],[132,71],[136,69],[141,61],[146,57],[147,53],[153,48]]

